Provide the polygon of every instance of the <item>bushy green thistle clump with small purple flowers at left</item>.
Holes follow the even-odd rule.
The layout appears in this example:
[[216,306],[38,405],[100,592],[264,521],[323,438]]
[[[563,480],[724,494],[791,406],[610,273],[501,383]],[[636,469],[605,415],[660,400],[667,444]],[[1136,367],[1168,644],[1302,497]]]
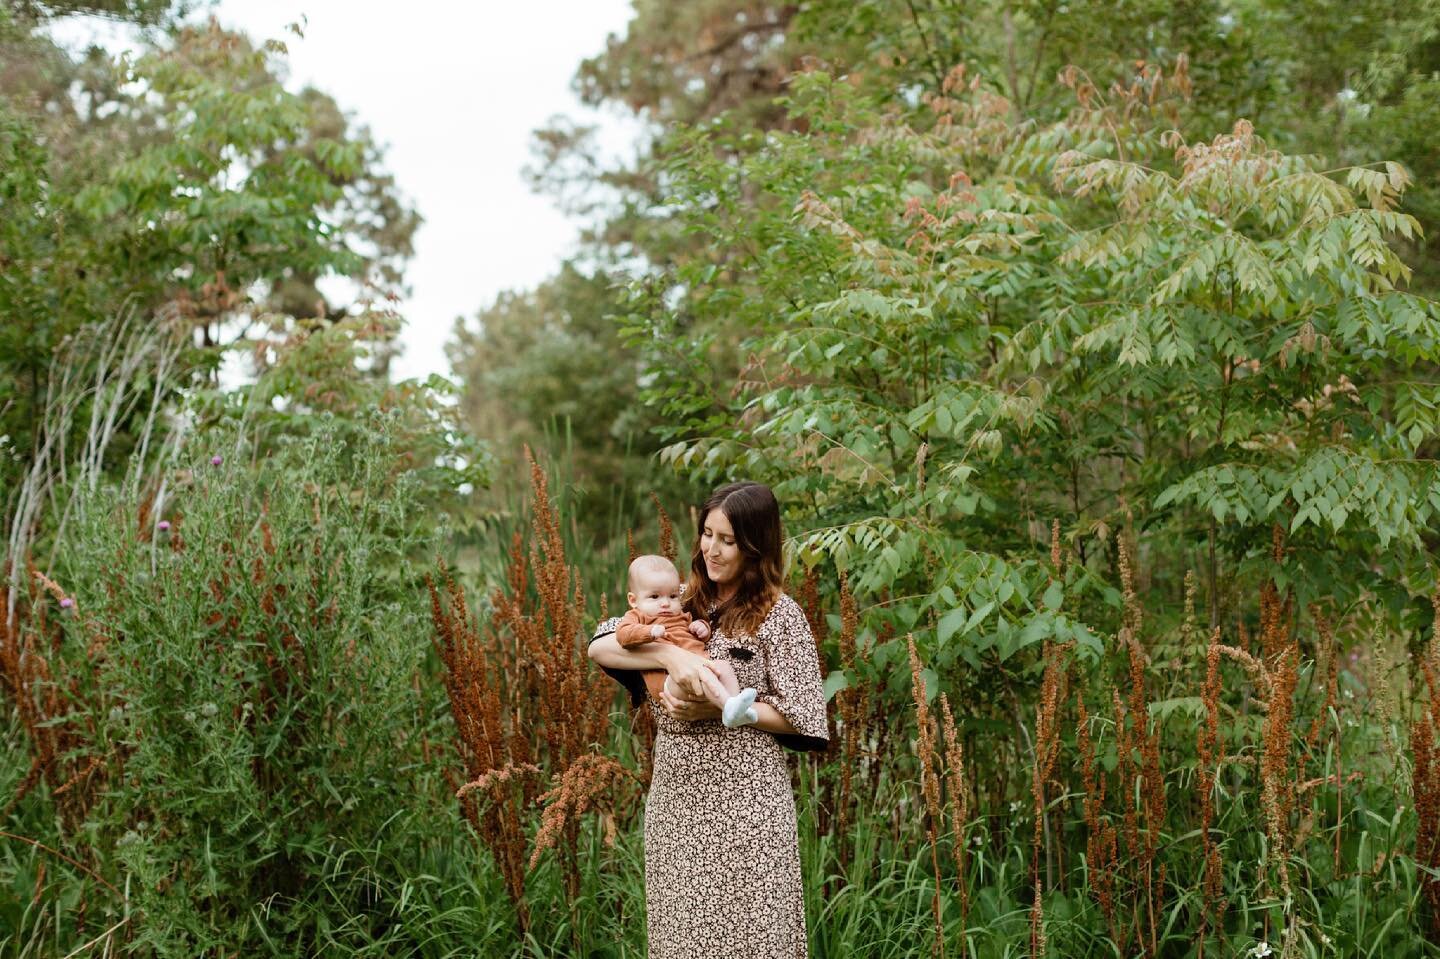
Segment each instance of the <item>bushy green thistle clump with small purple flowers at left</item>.
[[300,904],[403,814],[419,772],[396,766],[425,654],[415,478],[386,432],[321,431],[253,465],[243,439],[210,441],[225,459],[194,449],[158,513],[102,494],[69,544],[79,615],[60,642],[96,657],[112,778],[86,831],[156,955],[275,936],[300,955]]

